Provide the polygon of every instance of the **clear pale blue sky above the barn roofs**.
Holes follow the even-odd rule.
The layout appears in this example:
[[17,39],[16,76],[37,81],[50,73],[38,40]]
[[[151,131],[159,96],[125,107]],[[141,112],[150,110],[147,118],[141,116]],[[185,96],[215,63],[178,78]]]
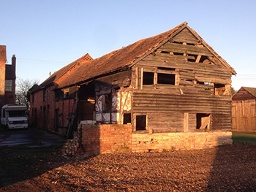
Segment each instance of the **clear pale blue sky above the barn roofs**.
[[43,82],[89,53],[92,58],[187,21],[232,66],[235,90],[256,88],[256,1],[0,0],[0,45],[16,76]]

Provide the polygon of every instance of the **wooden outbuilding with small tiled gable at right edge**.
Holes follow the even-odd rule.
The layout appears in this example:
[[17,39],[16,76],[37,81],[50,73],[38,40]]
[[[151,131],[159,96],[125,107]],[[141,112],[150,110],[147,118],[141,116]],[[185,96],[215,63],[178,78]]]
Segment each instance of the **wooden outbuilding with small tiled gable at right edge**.
[[232,97],[232,130],[256,132],[256,88],[241,87]]

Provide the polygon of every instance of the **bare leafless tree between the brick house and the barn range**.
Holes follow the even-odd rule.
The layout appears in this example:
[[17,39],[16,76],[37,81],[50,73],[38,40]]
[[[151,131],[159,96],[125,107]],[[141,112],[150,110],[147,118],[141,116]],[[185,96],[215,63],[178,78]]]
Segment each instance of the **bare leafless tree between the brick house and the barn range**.
[[16,103],[17,104],[25,104],[28,109],[30,106],[30,96],[29,91],[31,88],[37,88],[39,84],[39,80],[23,80],[17,78],[16,80]]

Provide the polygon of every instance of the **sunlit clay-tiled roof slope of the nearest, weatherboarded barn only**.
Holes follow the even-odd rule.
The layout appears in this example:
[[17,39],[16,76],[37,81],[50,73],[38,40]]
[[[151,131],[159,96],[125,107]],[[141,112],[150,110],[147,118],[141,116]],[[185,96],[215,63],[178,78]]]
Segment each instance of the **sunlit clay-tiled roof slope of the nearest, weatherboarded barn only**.
[[81,64],[69,78],[66,78],[59,83],[59,88],[79,84],[80,82],[85,82],[91,78],[98,77],[101,74],[108,74],[109,72],[129,66],[154,47],[157,47],[157,45],[170,37],[170,35],[185,26],[187,26],[187,22],[181,23],[181,25],[170,31],[166,31],[165,33],[147,39],[141,39],[132,45],[128,45],[127,47],[123,47],[108,53],[107,55],[103,55],[100,58],[94,59],[94,61]]

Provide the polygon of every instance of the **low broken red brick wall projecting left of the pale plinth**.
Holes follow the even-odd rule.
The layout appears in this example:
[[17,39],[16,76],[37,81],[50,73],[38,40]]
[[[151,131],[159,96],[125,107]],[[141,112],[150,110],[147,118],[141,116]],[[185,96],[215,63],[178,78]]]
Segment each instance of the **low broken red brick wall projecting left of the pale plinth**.
[[132,151],[132,125],[80,125],[78,137],[88,155]]

